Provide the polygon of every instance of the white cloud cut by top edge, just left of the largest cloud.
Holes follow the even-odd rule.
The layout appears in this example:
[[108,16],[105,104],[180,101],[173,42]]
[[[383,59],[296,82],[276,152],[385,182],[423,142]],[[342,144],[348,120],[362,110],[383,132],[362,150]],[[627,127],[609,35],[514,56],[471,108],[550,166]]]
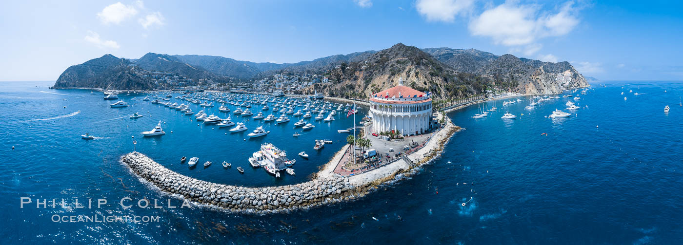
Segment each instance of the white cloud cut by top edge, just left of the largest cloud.
[[417,0],[417,12],[428,21],[453,22],[458,14],[471,12],[475,0]]

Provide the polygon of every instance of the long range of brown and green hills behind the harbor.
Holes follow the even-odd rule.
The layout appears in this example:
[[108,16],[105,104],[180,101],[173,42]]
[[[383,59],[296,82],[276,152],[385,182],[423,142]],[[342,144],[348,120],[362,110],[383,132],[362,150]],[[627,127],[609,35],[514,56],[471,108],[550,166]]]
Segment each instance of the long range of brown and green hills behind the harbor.
[[333,55],[298,63],[254,63],[209,55],[113,55],[67,68],[55,88],[116,90],[216,89],[247,92],[315,91],[340,98],[368,98],[398,83],[451,100],[483,93],[561,93],[589,86],[569,62],[544,62],[476,49],[416,48],[395,44],[382,51]]

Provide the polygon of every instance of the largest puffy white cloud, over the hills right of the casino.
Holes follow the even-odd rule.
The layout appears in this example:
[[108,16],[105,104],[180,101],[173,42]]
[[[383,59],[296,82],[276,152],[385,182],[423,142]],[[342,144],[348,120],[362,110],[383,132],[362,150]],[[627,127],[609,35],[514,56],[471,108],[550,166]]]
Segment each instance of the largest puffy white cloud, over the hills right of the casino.
[[494,44],[525,46],[524,54],[533,55],[542,47],[538,40],[567,35],[579,25],[576,12],[573,1],[556,13],[542,12],[540,5],[508,1],[474,17],[468,28],[472,35],[491,38]]

